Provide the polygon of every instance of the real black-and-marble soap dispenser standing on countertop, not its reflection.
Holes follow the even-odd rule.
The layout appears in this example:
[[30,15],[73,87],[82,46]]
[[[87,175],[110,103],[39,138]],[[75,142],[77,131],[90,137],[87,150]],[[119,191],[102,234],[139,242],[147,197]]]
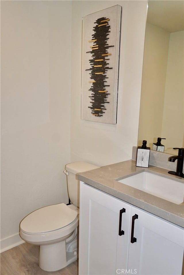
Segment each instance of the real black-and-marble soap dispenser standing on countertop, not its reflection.
[[150,147],[146,147],[147,141],[143,140],[142,146],[137,147],[136,166],[148,167],[150,159]]

